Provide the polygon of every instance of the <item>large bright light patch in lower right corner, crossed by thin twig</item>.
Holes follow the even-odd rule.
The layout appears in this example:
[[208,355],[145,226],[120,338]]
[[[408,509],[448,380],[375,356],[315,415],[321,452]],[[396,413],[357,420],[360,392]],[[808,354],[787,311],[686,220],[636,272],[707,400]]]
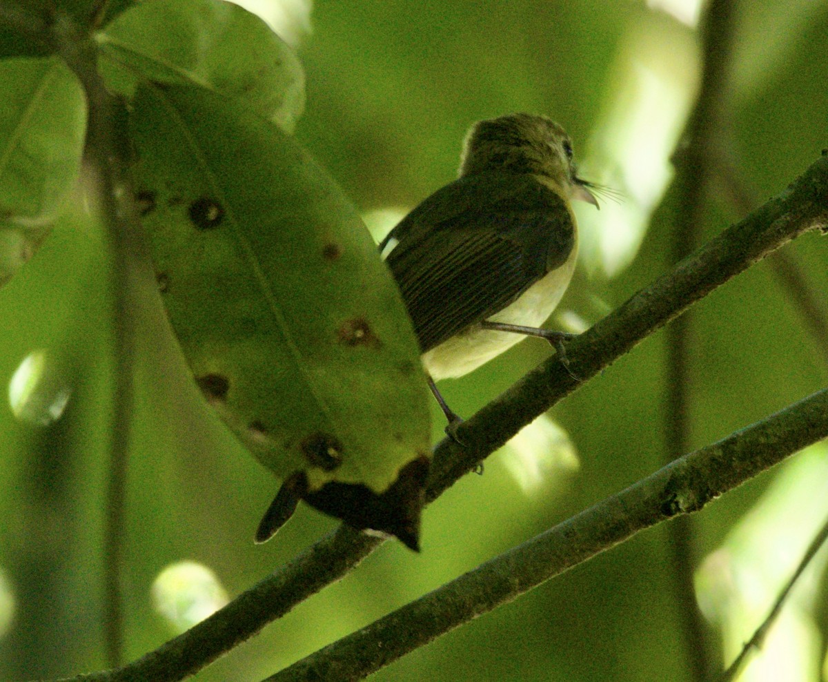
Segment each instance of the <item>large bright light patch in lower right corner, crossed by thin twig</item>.
[[[696,570],[701,612],[720,636],[724,660],[749,641],[828,515],[828,447],[816,444],[782,465],[751,510]],[[761,649],[739,680],[816,680],[824,665],[820,625],[828,566],[825,547],[787,597]],[[753,671],[773,671],[751,677]],[[781,674],[779,671],[784,671]]]

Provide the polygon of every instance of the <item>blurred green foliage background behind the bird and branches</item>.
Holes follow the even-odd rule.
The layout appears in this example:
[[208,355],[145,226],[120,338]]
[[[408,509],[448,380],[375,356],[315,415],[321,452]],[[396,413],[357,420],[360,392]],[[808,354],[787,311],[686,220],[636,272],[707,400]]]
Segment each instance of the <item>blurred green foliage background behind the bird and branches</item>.
[[[621,95],[623,70],[673,59],[678,83],[698,68],[692,47],[683,51],[694,45],[695,31],[643,2],[320,0],[310,17],[312,33],[301,35],[297,46],[307,87],[296,136],[364,211],[416,205],[454,177],[469,123],[515,110],[558,120],[584,159],[583,174],[595,177],[590,172],[599,173],[604,148],[611,146],[595,131]],[[826,31],[826,2],[741,3],[724,104],[734,133],[729,160],[754,205],[781,191],[828,146]],[[648,33],[672,36],[675,51],[652,51]],[[637,60],[625,61],[629,54]],[[585,242],[592,229],[588,210],[579,208]],[[666,272],[673,210],[668,197],[632,263],[614,277],[585,257],[561,308],[595,321]],[[700,226],[702,238],[741,212],[720,187]],[[786,249],[823,314],[826,249],[816,235]],[[50,428],[26,426],[0,409],[0,570],[16,602],[0,639],[4,680],[103,665],[101,537],[112,362],[105,254],[99,230],[69,215],[0,290],[0,377],[10,377],[29,352],[47,348],[74,359],[78,387],[64,418]],[[163,320],[154,312],[136,315],[141,346],[124,565],[131,659],[172,634],[150,598],[167,564],[204,563],[232,596],[335,527],[303,507],[277,539],[253,545],[276,481],[203,404]],[[768,263],[702,301],[694,311],[690,359],[693,446],[823,387],[825,344],[808,331]],[[460,414],[472,414],[548,353],[542,343],[526,341],[474,375],[446,383],[445,396]],[[341,583],[195,679],[259,680],[652,472],[665,457],[665,375],[659,333],[552,415],[579,454],[577,472],[553,470],[527,494],[504,464],[508,451],[490,458],[484,476],[467,476],[426,510],[421,554],[383,545]],[[433,421],[438,438],[436,410]],[[736,550],[728,544],[734,528],[751,517],[786,469],[798,467],[794,479],[812,478],[825,456],[824,447],[814,447],[806,464],[800,456],[698,515],[697,561],[728,548],[717,554],[720,569],[736,582]],[[820,523],[828,511],[824,486],[821,496],[802,497],[795,483],[791,490],[797,512],[787,507],[768,517],[793,518],[797,528]],[[778,504],[790,504],[779,497]],[[793,546],[782,542],[794,535],[765,527],[748,541],[751,561],[796,558],[807,537]],[[667,542],[663,525],[642,534],[375,679],[689,679]],[[760,605],[740,616],[743,638],[763,615],[761,604],[773,599],[775,584],[763,583]],[[823,583],[816,582],[802,607],[823,632],[825,597]],[[721,641],[712,626],[711,633]],[[819,679],[808,675],[818,674],[823,658],[823,651],[813,652],[801,679]]]

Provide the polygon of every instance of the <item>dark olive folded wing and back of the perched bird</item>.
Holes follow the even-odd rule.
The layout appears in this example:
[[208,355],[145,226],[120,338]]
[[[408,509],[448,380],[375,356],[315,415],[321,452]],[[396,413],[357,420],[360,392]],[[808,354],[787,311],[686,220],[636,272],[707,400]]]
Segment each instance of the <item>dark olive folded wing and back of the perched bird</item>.
[[436,191],[380,244],[425,352],[513,302],[575,245],[566,200],[489,173]]

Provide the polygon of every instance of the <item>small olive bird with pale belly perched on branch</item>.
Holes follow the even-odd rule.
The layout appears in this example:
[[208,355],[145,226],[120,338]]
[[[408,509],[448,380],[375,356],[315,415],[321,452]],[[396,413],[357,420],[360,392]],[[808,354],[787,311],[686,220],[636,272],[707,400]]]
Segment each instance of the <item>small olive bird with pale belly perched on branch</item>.
[[[556,348],[572,334],[542,329],[569,286],[578,252],[570,201],[596,208],[569,136],[539,114],[474,123],[455,181],[408,213],[378,244],[412,319],[428,385],[455,436],[462,418],[436,381],[468,374],[526,336]],[[593,191],[590,191],[593,190]]]

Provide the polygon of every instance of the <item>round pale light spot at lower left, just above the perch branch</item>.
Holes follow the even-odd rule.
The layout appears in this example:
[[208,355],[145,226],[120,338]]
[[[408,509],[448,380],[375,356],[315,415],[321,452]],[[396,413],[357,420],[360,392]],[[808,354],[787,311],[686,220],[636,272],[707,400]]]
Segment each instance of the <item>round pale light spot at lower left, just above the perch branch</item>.
[[200,623],[227,602],[219,578],[195,561],[171,563],[152,583],[153,606],[178,632]]

